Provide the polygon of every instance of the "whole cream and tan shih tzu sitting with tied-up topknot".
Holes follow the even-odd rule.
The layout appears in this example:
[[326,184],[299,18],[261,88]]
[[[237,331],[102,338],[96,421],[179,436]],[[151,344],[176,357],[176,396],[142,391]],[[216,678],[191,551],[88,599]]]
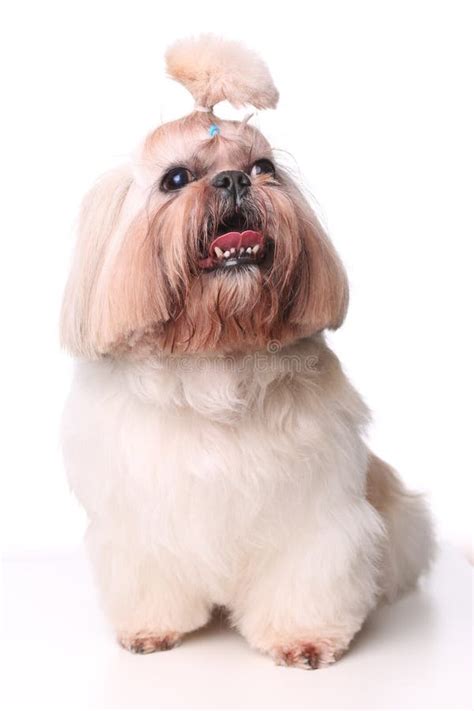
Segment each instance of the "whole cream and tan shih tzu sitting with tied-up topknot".
[[274,108],[236,43],[177,43],[193,95],[85,200],[62,312],[78,357],[63,448],[121,645],[177,645],[224,607],[255,649],[314,669],[433,551],[419,496],[364,442],[325,329],[348,288],[312,208],[249,120]]

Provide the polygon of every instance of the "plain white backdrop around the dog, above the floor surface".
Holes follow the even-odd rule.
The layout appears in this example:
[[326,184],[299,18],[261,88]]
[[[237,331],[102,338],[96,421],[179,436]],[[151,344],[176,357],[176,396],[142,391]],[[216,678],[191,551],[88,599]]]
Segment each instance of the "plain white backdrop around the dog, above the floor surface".
[[[79,202],[192,99],[176,38],[211,31],[267,60],[257,124],[301,171],[349,272],[330,341],[374,412],[370,443],[428,492],[440,536],[471,535],[473,17],[456,2],[3,5],[4,549],[69,548],[85,520],[58,444],[71,375],[58,312]],[[219,114],[219,110],[217,110]],[[222,115],[235,115],[222,107]]]

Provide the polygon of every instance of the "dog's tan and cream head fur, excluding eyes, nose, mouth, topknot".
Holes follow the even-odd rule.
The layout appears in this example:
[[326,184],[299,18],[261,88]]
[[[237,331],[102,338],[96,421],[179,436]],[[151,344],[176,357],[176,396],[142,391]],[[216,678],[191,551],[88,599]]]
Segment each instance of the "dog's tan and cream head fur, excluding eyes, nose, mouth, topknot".
[[[210,137],[209,125],[207,115],[193,113],[160,127],[132,171],[118,171],[86,200],[63,309],[63,342],[72,352],[246,352],[340,325],[343,268],[281,167],[276,179],[254,179],[242,204],[248,227],[271,239],[272,259],[235,271],[199,269],[230,209],[212,177],[273,159],[252,126],[219,122],[220,135]],[[196,180],[164,195],[160,179],[173,164],[189,166]]]

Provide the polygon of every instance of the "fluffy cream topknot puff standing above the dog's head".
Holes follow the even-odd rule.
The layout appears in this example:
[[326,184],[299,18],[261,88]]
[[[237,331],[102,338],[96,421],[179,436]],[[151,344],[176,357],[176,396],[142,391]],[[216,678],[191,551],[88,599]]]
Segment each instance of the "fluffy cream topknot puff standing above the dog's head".
[[268,67],[238,42],[213,35],[180,40],[167,51],[166,68],[202,109],[212,111],[224,99],[235,108],[274,109],[278,103]]

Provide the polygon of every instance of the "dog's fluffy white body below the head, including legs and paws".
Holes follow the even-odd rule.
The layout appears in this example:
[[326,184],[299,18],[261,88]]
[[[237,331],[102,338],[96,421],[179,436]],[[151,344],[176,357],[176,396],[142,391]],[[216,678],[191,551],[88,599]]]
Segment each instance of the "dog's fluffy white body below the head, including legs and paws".
[[367,421],[321,336],[80,363],[64,451],[122,644],[172,646],[225,606],[277,661],[334,661],[432,553],[423,502],[368,452]]

